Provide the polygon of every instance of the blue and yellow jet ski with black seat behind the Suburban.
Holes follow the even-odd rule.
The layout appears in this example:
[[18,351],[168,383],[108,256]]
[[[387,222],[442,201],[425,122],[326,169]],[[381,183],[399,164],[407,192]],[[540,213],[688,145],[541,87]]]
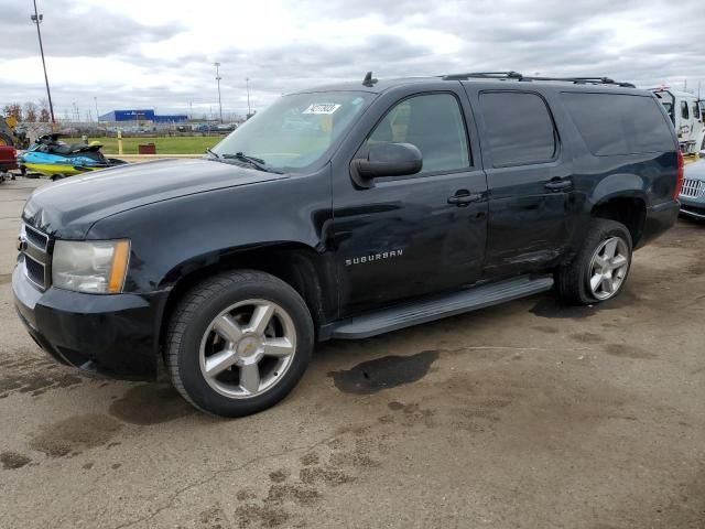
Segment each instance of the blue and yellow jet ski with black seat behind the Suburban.
[[18,158],[20,165],[52,180],[59,180],[126,163],[104,156],[100,152],[102,143],[99,141],[68,144],[61,141],[58,136],[46,134],[37,138],[34,144]]

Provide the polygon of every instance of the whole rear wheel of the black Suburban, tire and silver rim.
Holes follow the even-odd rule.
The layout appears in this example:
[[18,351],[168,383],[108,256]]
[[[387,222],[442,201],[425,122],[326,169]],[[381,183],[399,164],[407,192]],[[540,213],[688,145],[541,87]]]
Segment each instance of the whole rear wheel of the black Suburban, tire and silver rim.
[[574,304],[615,298],[629,274],[631,256],[631,235],[623,224],[594,219],[581,251],[556,272],[558,295]]

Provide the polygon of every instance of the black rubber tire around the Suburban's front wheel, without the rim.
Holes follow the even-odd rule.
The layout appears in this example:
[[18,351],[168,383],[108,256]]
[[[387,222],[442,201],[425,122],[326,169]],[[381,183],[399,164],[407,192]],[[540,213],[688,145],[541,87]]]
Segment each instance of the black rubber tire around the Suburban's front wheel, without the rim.
[[[295,328],[295,347],[291,363],[272,387],[261,395],[231,398],[206,380],[200,367],[200,347],[212,323],[223,311],[245,300],[265,300],[281,307]],[[311,361],[313,346],[313,321],[299,293],[268,273],[238,270],[197,284],[180,301],[169,322],[165,364],[172,384],[194,407],[215,415],[243,417],[271,408],[294,389]]]

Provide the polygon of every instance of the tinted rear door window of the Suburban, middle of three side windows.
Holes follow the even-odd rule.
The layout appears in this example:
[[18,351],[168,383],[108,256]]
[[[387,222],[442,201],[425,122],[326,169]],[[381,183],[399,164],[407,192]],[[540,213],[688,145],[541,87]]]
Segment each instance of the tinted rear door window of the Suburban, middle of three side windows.
[[544,100],[535,94],[486,91],[480,108],[492,165],[549,162],[556,154],[556,133]]

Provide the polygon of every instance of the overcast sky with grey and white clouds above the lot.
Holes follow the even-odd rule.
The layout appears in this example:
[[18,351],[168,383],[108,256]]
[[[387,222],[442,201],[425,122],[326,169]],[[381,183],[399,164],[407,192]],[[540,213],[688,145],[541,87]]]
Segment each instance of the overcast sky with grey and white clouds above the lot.
[[[57,118],[258,110],[337,80],[609,76],[705,97],[703,0],[37,0]],[[31,0],[0,0],[0,108],[46,98]]]

